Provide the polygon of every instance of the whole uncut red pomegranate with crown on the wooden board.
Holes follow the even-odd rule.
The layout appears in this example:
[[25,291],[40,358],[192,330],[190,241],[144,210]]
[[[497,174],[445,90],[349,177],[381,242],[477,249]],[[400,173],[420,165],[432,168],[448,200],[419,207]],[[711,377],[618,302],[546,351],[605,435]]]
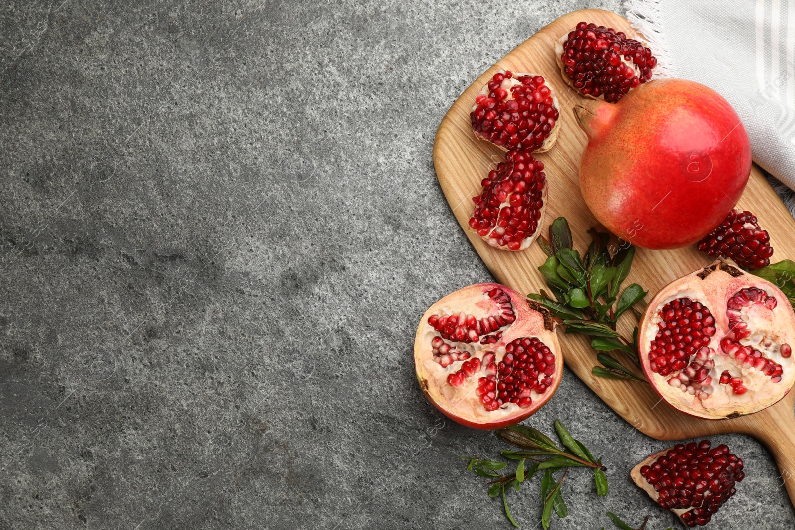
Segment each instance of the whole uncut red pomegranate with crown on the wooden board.
[[658,79],[619,103],[574,107],[588,134],[580,189],[608,230],[646,249],[692,245],[718,226],[750,175],[743,123],[717,92]]

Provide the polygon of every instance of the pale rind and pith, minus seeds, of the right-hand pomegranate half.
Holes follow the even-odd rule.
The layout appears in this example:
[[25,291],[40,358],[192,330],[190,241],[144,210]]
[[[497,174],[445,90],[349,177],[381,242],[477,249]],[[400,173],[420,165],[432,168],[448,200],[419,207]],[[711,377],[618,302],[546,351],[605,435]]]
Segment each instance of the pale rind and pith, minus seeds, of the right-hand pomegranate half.
[[[774,361],[783,368],[781,381],[774,383],[770,381],[770,377],[757,369],[740,368],[731,358],[723,354],[720,340],[731,330],[726,313],[727,302],[740,289],[749,287],[761,288],[768,296],[774,296],[778,301],[776,307],[770,311],[773,316],[770,325],[765,327],[766,335],[773,335],[778,344],[790,346],[795,344],[795,314],[781,289],[761,277],[743,273],[740,269],[727,265],[723,260],[715,261],[704,269],[673,280],[661,288],[648,304],[638,332],[643,372],[654,392],[673,408],[705,420],[725,420],[747,416],[768,408],[778,403],[792,389],[795,384],[795,366],[792,357],[784,358],[779,355],[774,358]],[[715,335],[709,343],[709,347],[715,350],[714,372],[719,375],[723,369],[730,369],[732,374],[741,373],[748,389],[743,395],[735,395],[730,385],[722,385],[717,381],[717,377],[713,377],[712,395],[707,400],[700,400],[669,385],[668,381],[672,377],[670,374],[661,376],[653,371],[650,346],[659,329],[657,326],[661,320],[659,311],[669,301],[685,296],[704,304],[715,319]]]

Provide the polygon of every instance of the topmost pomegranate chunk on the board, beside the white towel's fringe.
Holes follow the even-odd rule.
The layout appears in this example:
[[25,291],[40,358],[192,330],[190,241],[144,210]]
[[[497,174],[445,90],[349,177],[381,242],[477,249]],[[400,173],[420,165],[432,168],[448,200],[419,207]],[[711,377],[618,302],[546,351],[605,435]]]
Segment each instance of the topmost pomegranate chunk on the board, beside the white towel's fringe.
[[564,79],[583,95],[607,103],[651,79],[657,57],[641,41],[603,25],[580,22],[555,44]]

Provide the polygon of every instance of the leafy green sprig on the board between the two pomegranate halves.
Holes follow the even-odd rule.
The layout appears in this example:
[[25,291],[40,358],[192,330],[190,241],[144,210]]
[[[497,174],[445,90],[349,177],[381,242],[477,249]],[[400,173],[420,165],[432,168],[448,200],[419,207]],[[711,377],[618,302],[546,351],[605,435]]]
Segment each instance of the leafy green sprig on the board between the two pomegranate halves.
[[[619,317],[635,304],[645,305],[647,292],[639,284],[621,288],[630,273],[635,247],[619,239],[611,243],[610,234],[591,228],[591,244],[580,256],[574,250],[572,230],[564,217],[549,225],[549,239],[537,239],[547,255],[538,270],[544,276],[549,293],[541,289],[528,298],[541,302],[566,327],[566,333],[582,333],[591,337],[591,347],[599,352],[622,351],[636,364],[638,358],[638,327],[632,338],[616,331]],[[603,366],[594,366],[592,373],[599,377],[644,381],[623,366],[613,356],[597,356]]]

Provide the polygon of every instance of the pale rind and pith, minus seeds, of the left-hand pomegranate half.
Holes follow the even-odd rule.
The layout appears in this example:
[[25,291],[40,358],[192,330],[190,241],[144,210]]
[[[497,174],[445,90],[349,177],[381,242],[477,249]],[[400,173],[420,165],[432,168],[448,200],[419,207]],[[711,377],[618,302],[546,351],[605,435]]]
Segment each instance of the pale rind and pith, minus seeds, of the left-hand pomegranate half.
[[[516,319],[514,323],[502,327],[502,337],[493,344],[481,345],[478,343],[463,344],[454,342],[460,349],[471,352],[494,351],[496,362],[500,362],[506,354],[506,345],[514,339],[529,337],[539,339],[549,347],[555,356],[555,371],[549,377],[552,382],[542,394],[533,392],[531,398],[533,403],[529,408],[519,408],[517,404],[506,403],[502,408],[494,411],[487,411],[481,404],[478,396],[474,392],[476,381],[480,374],[475,374],[471,380],[467,381],[462,387],[455,388],[448,384],[447,378],[451,373],[455,373],[463,365],[463,361],[452,362],[450,366],[442,367],[433,360],[431,341],[438,336],[438,332],[431,327],[428,319],[432,315],[440,312],[456,314],[460,311],[465,313],[475,313],[487,309],[488,304],[484,304],[484,293],[493,288],[500,288],[510,296],[511,304],[514,308]],[[510,425],[518,424],[529,416],[537,412],[539,408],[549,401],[563,377],[563,354],[560,350],[560,342],[554,329],[554,323],[549,318],[549,313],[542,313],[531,308],[534,304],[527,300],[513,289],[501,284],[483,283],[472,284],[460,288],[433,304],[425,315],[422,315],[417,335],[414,339],[414,366],[417,371],[417,381],[422,392],[431,404],[439,409],[445,416],[458,424],[466,425],[483,430],[494,430]],[[540,311],[544,311],[539,308]]]

